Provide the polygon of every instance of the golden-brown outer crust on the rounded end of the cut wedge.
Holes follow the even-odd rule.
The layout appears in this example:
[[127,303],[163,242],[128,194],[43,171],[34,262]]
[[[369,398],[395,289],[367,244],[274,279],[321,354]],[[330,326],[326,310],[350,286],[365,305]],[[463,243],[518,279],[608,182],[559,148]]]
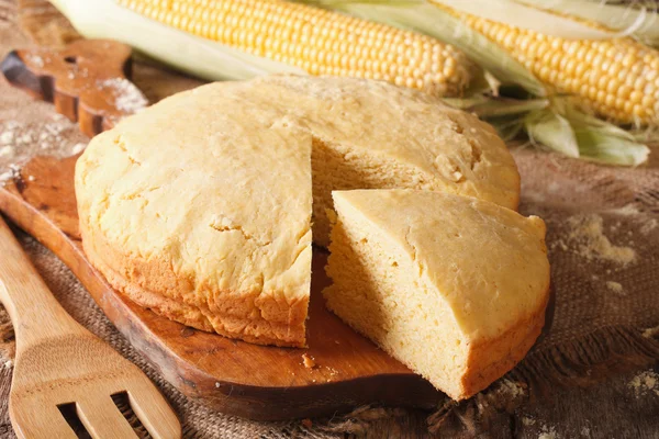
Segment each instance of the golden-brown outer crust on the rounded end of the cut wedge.
[[467,369],[461,379],[461,394],[449,395],[466,399],[488,387],[511,371],[526,356],[545,326],[549,289],[541,306],[527,319],[518,322],[502,336],[471,345]]

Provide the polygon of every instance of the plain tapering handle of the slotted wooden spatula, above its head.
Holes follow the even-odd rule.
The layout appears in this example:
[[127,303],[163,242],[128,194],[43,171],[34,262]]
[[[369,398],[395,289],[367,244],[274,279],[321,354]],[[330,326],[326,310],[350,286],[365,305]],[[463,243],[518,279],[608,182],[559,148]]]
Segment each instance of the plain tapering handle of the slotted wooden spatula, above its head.
[[53,296],[1,216],[0,301],[11,317],[19,350],[80,328]]

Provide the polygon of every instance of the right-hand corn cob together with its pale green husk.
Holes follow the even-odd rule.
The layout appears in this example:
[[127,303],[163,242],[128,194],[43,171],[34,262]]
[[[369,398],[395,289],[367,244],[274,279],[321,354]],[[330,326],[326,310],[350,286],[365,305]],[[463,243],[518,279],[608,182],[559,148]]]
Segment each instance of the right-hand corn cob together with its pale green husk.
[[[521,3],[535,0],[312,2],[432,35],[462,49],[504,85],[521,86],[536,98],[530,111],[492,117],[498,114],[492,112],[496,102],[487,102],[488,111],[481,113],[505,133],[525,130],[532,140],[572,157],[615,165],[647,160],[649,149],[636,142],[637,133],[594,116],[636,126],[659,125],[659,54],[624,31]],[[559,30],[559,35],[541,34],[528,25]],[[651,37],[656,34],[648,31]],[[470,101],[479,100],[457,104],[479,112],[478,105],[469,106]],[[505,114],[507,105],[499,113]]]

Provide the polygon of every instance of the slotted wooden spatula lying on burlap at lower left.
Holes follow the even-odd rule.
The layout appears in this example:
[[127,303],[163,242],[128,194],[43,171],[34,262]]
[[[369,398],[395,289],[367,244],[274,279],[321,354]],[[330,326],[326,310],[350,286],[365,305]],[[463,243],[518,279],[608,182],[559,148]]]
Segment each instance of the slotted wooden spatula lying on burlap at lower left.
[[112,399],[121,393],[154,438],[181,437],[156,386],[64,311],[1,217],[0,301],[16,335],[9,414],[20,438],[76,438],[58,409],[71,403],[92,438],[135,438]]

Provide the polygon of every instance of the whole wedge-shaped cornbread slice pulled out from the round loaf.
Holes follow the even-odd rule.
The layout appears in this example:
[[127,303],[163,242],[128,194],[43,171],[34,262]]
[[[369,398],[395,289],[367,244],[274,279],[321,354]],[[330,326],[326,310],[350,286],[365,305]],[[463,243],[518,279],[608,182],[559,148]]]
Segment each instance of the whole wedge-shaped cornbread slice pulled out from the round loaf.
[[443,192],[333,192],[327,306],[455,399],[528,351],[549,289],[545,224]]

